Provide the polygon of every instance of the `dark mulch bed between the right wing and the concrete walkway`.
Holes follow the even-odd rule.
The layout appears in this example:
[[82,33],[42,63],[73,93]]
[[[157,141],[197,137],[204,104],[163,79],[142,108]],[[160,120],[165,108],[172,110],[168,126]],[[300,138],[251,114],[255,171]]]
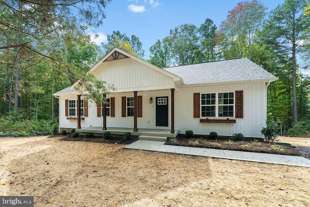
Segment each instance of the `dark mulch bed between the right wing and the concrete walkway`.
[[[261,143],[260,146],[254,146],[252,142],[254,139],[246,139],[243,141],[233,141],[232,145],[225,144],[224,142],[228,141],[229,138],[218,138],[216,140],[208,139],[208,137],[194,136],[193,138],[186,138],[184,134],[179,134],[177,136],[177,143],[172,143],[170,139],[167,140],[165,144],[168,145],[177,145],[177,146],[191,146],[191,147],[202,147],[202,148],[213,148],[213,149],[226,149],[226,150],[236,150],[236,151],[245,151],[245,152],[258,152],[258,153],[269,153],[269,154],[280,154],[280,155],[295,155],[302,156],[305,158],[310,158],[310,153],[300,150],[298,147],[287,147],[283,146],[284,151],[279,151],[271,148],[271,145],[275,143],[268,143],[259,140]],[[190,144],[190,142],[198,141],[198,144]],[[213,146],[211,143],[219,143],[220,146]],[[249,145],[247,148],[241,145]]]

